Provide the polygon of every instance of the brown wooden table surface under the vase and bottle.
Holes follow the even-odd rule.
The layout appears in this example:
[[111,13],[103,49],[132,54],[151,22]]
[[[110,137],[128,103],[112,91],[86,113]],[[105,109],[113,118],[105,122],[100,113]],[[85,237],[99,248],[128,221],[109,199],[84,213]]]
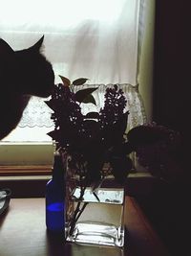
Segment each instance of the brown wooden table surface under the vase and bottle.
[[0,256],[167,256],[169,255],[134,198],[125,200],[124,249],[64,244],[45,225],[45,198],[11,198],[0,216]]

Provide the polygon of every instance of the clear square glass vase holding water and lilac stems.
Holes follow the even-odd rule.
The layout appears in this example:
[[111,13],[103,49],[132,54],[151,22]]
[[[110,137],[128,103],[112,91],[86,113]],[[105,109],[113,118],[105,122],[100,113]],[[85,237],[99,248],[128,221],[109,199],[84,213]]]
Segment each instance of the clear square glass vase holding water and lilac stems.
[[66,189],[66,241],[123,247],[124,188],[110,184],[93,192],[87,187],[83,190],[83,197],[80,197],[80,187],[68,185]]

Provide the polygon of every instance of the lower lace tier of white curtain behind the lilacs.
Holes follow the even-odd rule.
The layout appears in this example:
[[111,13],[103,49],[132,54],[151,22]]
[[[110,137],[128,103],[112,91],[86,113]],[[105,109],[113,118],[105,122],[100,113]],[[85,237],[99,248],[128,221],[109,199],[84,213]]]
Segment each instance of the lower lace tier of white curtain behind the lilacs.
[[[77,86],[77,89],[85,89],[87,87],[98,87],[93,93],[96,100],[96,105],[93,104],[81,104],[84,114],[90,111],[99,111],[104,105],[105,89],[113,84],[84,84]],[[138,92],[138,85],[132,86],[129,83],[118,84],[118,88],[122,89],[126,99],[126,109],[129,110],[128,116],[128,128],[133,128],[139,124],[146,122],[146,115],[142,99]],[[37,97],[32,97],[30,105],[25,109],[23,119],[21,120],[19,127],[53,127],[53,120],[50,118],[52,110],[45,105],[44,101]]]

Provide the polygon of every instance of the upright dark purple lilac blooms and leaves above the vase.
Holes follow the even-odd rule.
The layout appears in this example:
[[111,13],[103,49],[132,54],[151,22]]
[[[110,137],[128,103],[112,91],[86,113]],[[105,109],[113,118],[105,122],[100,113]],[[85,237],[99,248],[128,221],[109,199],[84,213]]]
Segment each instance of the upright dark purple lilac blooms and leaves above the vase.
[[[81,103],[96,104],[92,93],[96,88],[87,88],[74,93],[74,87],[86,82],[78,79],[71,83],[55,85],[52,99],[46,102],[53,109],[54,130],[49,135],[57,147],[71,154],[70,165],[87,185],[99,181],[105,163],[118,182],[123,182],[132,168],[131,158],[120,151],[125,144],[125,130],[129,112],[125,112],[126,98],[115,85],[107,88],[105,104],[99,112],[83,115]],[[120,166],[120,172],[118,167]],[[82,171],[83,170],[83,171]]]

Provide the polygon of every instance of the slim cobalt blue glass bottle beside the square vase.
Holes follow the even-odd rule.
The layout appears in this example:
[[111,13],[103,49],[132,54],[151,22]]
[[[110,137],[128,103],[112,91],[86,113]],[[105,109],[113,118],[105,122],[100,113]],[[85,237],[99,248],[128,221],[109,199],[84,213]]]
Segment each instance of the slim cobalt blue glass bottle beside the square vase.
[[46,185],[46,225],[56,233],[64,233],[64,169],[59,152],[54,153],[53,177]]

